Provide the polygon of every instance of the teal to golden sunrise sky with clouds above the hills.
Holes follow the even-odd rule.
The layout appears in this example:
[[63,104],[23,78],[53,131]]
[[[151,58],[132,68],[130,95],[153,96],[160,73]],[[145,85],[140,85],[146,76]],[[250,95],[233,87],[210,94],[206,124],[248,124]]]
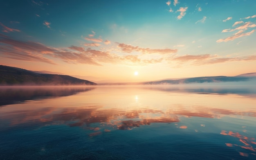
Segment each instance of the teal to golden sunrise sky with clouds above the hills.
[[0,0],[0,64],[99,82],[256,72],[255,0]]

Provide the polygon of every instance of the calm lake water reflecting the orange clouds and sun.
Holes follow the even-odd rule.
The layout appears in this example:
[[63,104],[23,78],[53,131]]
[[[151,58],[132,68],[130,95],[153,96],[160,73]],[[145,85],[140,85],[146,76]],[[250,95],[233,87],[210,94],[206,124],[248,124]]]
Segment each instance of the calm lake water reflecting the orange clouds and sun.
[[256,159],[252,87],[2,87],[1,160]]

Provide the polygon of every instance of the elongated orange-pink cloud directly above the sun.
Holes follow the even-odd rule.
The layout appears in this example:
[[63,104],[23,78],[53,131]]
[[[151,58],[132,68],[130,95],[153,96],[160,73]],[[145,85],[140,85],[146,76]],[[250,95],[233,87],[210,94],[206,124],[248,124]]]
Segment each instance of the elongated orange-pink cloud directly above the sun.
[[159,53],[159,54],[169,54],[169,53],[177,53],[177,49],[150,49],[150,48],[140,48],[139,46],[132,46],[129,44],[118,43],[118,47],[121,48],[122,51],[126,53],[131,52],[140,52],[143,54],[151,54],[151,53]]

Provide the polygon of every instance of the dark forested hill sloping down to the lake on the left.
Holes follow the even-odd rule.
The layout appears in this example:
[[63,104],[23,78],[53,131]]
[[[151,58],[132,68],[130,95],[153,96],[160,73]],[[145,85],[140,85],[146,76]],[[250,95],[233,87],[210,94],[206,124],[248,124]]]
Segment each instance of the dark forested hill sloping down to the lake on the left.
[[67,75],[40,74],[0,65],[0,85],[97,85],[97,83]]

